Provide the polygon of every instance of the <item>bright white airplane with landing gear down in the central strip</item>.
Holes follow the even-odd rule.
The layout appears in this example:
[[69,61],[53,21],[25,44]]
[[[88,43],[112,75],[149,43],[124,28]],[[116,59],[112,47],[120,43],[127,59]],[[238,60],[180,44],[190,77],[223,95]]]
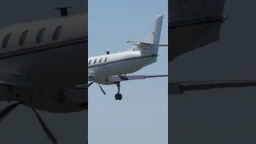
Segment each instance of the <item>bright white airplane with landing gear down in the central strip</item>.
[[116,85],[118,86],[118,93],[115,94],[114,98],[116,100],[122,100],[120,82],[145,78],[168,77],[168,75],[165,74],[126,75],[132,74],[145,66],[157,62],[158,47],[168,46],[167,44],[159,43],[163,17],[164,15],[158,15],[154,21],[153,29],[146,40],[142,42],[128,41],[128,43],[134,45],[134,47],[129,50],[113,54],[107,51],[105,55],[88,58],[88,81],[90,82],[88,87],[96,82],[102,90],[102,93],[106,94],[101,84]]

